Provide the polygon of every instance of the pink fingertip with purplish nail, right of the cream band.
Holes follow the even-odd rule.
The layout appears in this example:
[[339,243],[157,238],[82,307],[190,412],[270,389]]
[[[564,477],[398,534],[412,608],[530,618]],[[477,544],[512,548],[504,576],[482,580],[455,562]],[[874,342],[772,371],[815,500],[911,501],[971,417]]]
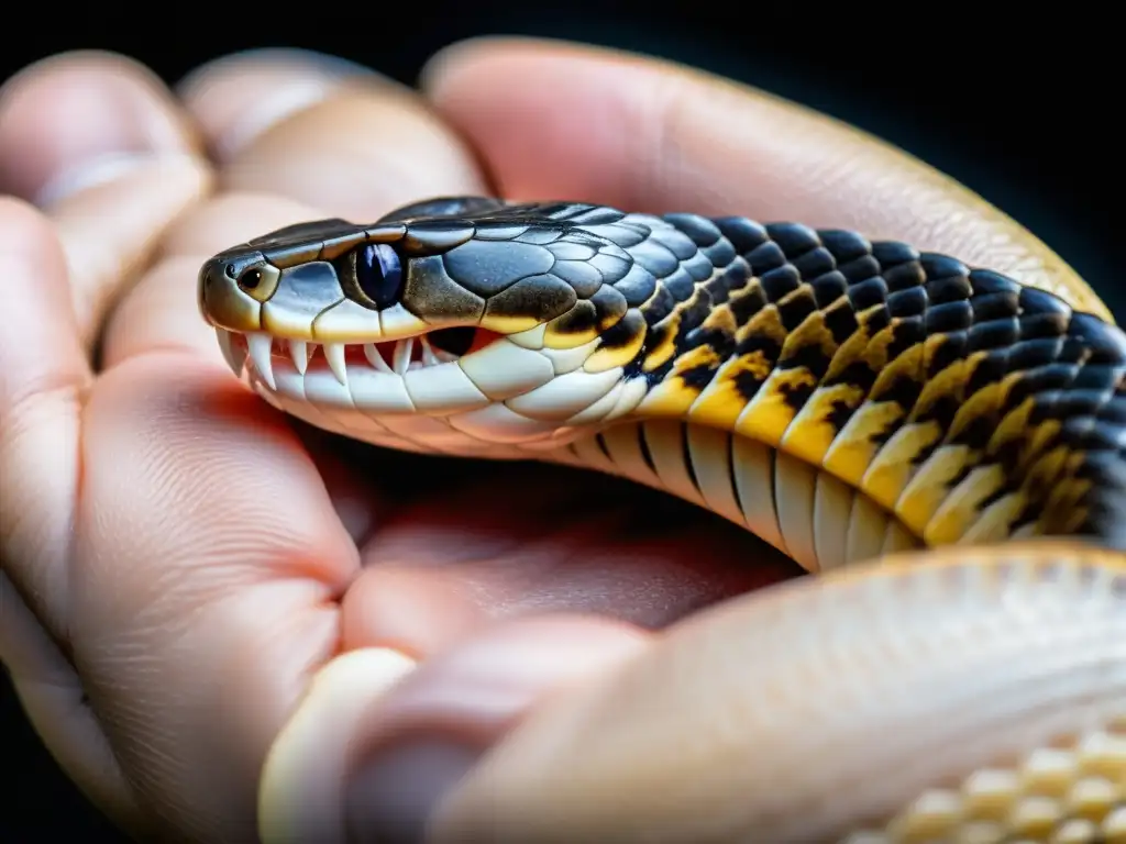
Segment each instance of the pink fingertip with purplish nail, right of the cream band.
[[627,658],[641,643],[617,623],[526,619],[436,657],[383,701],[385,735],[342,793],[348,841],[425,841],[441,800],[542,694]]

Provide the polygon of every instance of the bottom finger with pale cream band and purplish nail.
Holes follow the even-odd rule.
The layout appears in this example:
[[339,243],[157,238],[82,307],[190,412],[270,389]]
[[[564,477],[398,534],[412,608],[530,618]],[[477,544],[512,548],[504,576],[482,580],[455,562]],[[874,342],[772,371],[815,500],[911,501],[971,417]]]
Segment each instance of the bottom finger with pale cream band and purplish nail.
[[[549,690],[628,659],[645,637],[582,618],[500,625],[408,674],[369,648],[318,675],[267,761],[266,842],[418,841],[429,802]],[[400,679],[391,685],[387,675]]]

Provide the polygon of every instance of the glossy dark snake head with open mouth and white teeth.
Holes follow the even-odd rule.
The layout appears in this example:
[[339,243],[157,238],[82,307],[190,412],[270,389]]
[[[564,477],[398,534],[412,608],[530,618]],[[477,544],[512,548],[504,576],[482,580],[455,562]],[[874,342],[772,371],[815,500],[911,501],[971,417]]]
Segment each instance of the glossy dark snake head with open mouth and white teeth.
[[472,429],[461,451],[557,439],[624,383],[656,287],[599,214],[622,217],[454,197],[288,226],[208,260],[199,307],[238,375],[322,427],[418,440],[430,416]]

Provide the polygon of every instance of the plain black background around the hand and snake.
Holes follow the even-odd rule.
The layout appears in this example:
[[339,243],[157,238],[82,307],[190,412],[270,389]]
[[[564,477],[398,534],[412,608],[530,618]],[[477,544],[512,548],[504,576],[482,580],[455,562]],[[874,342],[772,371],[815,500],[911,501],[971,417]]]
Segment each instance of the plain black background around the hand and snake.
[[[161,8],[168,7],[168,8]],[[810,5],[314,2],[6,9],[0,77],[64,50],[113,50],[175,82],[209,59],[292,46],[336,53],[411,82],[462,38],[539,35],[660,55],[820,108],[962,180],[1034,231],[1126,317],[1120,246],[1123,105],[1115,28],[1080,7],[1019,20],[978,5],[885,7],[826,17]],[[839,7],[843,8],[843,7]],[[1034,7],[1030,7],[1034,8]],[[1046,8],[1046,7],[1045,7]],[[142,11],[138,11],[142,10]],[[30,733],[0,683],[0,842],[116,841]]]

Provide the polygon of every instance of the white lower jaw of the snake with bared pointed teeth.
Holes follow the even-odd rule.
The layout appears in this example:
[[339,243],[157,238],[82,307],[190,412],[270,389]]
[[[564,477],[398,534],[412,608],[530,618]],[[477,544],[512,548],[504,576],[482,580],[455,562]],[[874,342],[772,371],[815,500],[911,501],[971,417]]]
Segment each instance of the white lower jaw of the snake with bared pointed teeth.
[[623,389],[620,368],[583,368],[596,343],[561,352],[475,329],[456,353],[443,348],[449,331],[345,343],[216,329],[227,365],[269,404],[378,446],[526,459],[644,395],[643,379]]

